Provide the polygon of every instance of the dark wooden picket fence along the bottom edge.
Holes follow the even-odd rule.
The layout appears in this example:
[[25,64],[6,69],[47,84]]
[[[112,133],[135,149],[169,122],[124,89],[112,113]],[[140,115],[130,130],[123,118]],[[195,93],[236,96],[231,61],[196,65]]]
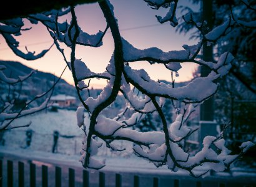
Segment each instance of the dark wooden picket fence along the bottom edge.
[[[30,186],[36,187],[36,165],[30,163]],[[2,160],[0,160],[0,178],[2,179]],[[19,187],[24,187],[24,163],[18,162],[18,184]],[[13,187],[13,162],[7,160],[7,186]],[[55,169],[55,186],[61,187],[61,168],[56,166]],[[75,170],[69,168],[69,187],[75,186]],[[89,187],[89,171],[83,170],[83,186]],[[140,186],[140,177],[134,176],[134,187]],[[180,186],[180,180],[174,180],[174,187]],[[225,183],[219,183],[217,187],[225,187]],[[2,187],[2,180],[0,180],[0,187]],[[48,187],[48,167],[42,165],[42,187]],[[99,172],[99,187],[105,187],[105,173]],[[116,174],[116,187],[122,187],[122,175]],[[152,187],[159,187],[159,178],[154,178]],[[196,181],[195,186],[202,187],[201,181]],[[244,185],[244,187],[253,187]]]

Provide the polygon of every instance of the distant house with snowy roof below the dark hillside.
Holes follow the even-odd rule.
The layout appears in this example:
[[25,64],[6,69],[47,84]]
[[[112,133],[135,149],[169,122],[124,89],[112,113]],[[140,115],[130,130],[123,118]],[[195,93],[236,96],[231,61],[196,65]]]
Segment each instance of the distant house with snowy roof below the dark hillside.
[[75,105],[76,97],[65,94],[59,94],[52,96],[50,101],[51,103],[57,103],[59,107],[71,107]]

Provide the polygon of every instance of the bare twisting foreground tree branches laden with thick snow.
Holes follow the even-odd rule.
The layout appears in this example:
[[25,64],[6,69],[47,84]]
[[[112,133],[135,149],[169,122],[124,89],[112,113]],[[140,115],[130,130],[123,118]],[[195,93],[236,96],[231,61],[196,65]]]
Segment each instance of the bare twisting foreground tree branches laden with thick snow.
[[[157,16],[160,23],[170,21],[171,26],[177,26],[178,22],[175,17],[175,10],[178,0],[144,0],[154,9],[159,7],[169,8],[165,17]],[[114,151],[122,151],[115,147],[111,142],[114,140],[126,140],[135,144],[133,150],[135,155],[144,158],[155,166],[167,165],[172,171],[179,169],[189,171],[191,176],[194,175],[194,168],[202,165],[209,165],[209,168],[215,171],[228,170],[235,160],[240,158],[251,146],[255,144],[247,141],[240,146],[241,153],[239,155],[229,155],[230,151],[225,148],[225,140],[223,133],[219,137],[205,137],[204,148],[195,156],[190,157],[185,150],[182,150],[184,139],[189,137],[196,130],[190,130],[184,126],[184,122],[190,113],[195,110],[198,103],[204,102],[207,98],[212,97],[219,89],[217,80],[226,75],[230,68],[230,62],[233,60],[232,54],[225,52],[219,58],[217,63],[205,62],[196,59],[202,45],[206,42],[208,45],[214,45],[220,37],[228,34],[232,25],[236,20],[229,17],[229,20],[221,26],[215,27],[212,31],[204,34],[203,29],[207,27],[207,23],[195,22],[193,14],[189,13],[183,16],[187,24],[193,24],[202,33],[202,41],[194,46],[184,45],[184,50],[173,50],[164,52],[157,47],[140,50],[132,46],[126,41],[119,32],[117,18],[114,16],[114,7],[109,1],[99,1],[99,6],[106,18],[107,27],[104,32],[98,32],[95,35],[89,35],[82,31],[77,24],[74,7],[64,11],[71,11],[72,21],[70,24],[64,22],[58,23],[58,16],[64,12],[44,12],[42,14],[30,15],[29,19],[34,22],[42,22],[47,27],[54,44],[64,56],[67,66],[72,72],[74,84],[76,86],[77,95],[79,96],[83,107],[77,109],[77,125],[83,128],[85,136],[82,141],[81,159],[84,168],[92,168],[99,170],[105,166],[105,160],[96,160],[93,156],[97,154],[98,148],[102,146],[94,137],[101,138],[106,142],[108,148]],[[76,45],[99,47],[102,46],[102,38],[107,29],[111,29],[114,39],[114,53],[106,67],[106,71],[101,74],[92,72],[82,60],[76,59]],[[59,46],[59,42],[71,47],[71,62],[68,62],[64,50]],[[212,72],[207,77],[198,77],[185,87],[175,88],[173,85],[167,85],[163,82],[156,82],[150,79],[144,69],[134,70],[129,66],[130,62],[146,60],[149,64],[164,64],[167,69],[177,71],[181,68],[180,63],[192,62],[204,65]],[[86,79],[106,79],[107,85],[97,98],[89,97],[82,100],[81,90],[87,89],[89,85],[84,84]],[[145,94],[145,98],[139,99],[131,89],[131,86]],[[120,113],[116,118],[110,119],[101,115],[104,108],[111,105],[121,92],[126,98],[127,108],[134,110],[135,113],[126,120],[121,120],[124,112]],[[177,115],[175,122],[170,124],[168,128],[162,107],[165,98],[179,100],[189,107],[184,110],[183,114]],[[90,117],[89,129],[84,125],[84,109],[87,110]],[[126,111],[126,110],[124,110]],[[140,120],[145,118],[146,113],[157,111],[162,120],[163,132],[137,132],[129,127],[136,125]],[[187,112],[186,112],[187,111]],[[224,130],[228,125],[224,128]],[[212,146],[215,146],[220,153],[216,153]],[[145,151],[146,150],[146,151]]]

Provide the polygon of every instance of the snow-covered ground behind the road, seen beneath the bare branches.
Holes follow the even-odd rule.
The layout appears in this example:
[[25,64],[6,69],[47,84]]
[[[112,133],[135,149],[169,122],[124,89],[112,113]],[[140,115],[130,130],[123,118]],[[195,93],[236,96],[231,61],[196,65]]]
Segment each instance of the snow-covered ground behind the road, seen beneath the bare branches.
[[[45,161],[47,163],[61,163],[62,165],[70,165],[82,167],[78,161],[80,158],[79,151],[82,146],[82,138],[84,132],[77,126],[76,112],[72,110],[58,110],[58,112],[41,112],[35,115],[20,118],[12,123],[12,125],[22,125],[32,121],[30,127],[16,128],[4,133],[5,145],[0,146],[0,153],[17,155],[27,159]],[[86,116],[84,120],[86,126],[89,125],[89,118]],[[31,146],[26,147],[26,131],[32,130]],[[51,153],[53,140],[53,132],[57,130],[60,134],[57,144],[57,153]],[[101,141],[101,140],[98,140]],[[97,160],[107,158],[106,167],[102,170],[114,171],[136,171],[142,173],[162,173],[170,175],[171,171],[167,166],[156,168],[153,163],[137,158],[132,153],[132,143],[127,141],[113,142],[118,148],[126,148],[126,151],[113,152],[102,145],[97,154]],[[202,173],[207,170],[207,166],[198,168],[195,173]],[[243,168],[232,169],[232,175],[245,174]],[[241,173],[241,171],[243,171]],[[172,172],[172,174],[174,174]],[[187,171],[178,171],[174,175],[189,175]],[[229,175],[222,173],[219,175]],[[256,176],[255,172],[246,172],[246,175]]]

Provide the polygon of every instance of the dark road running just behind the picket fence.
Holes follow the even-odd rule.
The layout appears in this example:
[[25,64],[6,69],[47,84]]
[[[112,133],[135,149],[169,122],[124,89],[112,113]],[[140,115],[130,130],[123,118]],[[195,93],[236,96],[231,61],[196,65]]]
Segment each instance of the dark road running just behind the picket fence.
[[[55,167],[61,167],[62,170],[62,186],[66,187],[69,185],[69,168],[75,170],[75,184],[77,187],[82,187],[82,167],[71,166],[67,163],[63,165],[61,163],[54,164],[50,162],[42,162],[39,160],[27,160],[26,158],[21,158],[19,156],[8,155],[6,153],[0,153],[0,158],[2,160],[2,186],[7,186],[7,160],[13,161],[13,186],[18,186],[17,184],[17,165],[18,161],[24,163],[24,176],[25,176],[25,186],[29,187],[29,164],[34,163],[36,165],[36,186],[41,186],[42,184],[42,173],[41,166],[48,166],[48,186],[55,186]],[[116,173],[117,171],[106,171],[101,170],[105,173],[106,177],[106,187],[115,186]],[[120,171],[119,174],[122,175],[122,186],[133,186],[134,185],[134,175],[140,177],[140,187],[149,187],[153,186],[153,178],[159,178],[159,186],[161,187],[171,187],[174,186],[174,180],[179,180],[179,187],[184,186],[197,186],[197,181],[202,183],[202,187],[244,187],[244,186],[255,186],[256,187],[256,177],[254,175],[247,174],[247,176],[231,176],[229,173],[224,173],[219,175],[217,173],[212,173],[212,175],[199,179],[192,178],[187,175],[175,175],[175,173],[142,173],[141,171]],[[225,185],[224,185],[225,184]],[[99,186],[99,171],[89,173],[89,186],[96,187]],[[177,187],[177,184],[174,186]]]

